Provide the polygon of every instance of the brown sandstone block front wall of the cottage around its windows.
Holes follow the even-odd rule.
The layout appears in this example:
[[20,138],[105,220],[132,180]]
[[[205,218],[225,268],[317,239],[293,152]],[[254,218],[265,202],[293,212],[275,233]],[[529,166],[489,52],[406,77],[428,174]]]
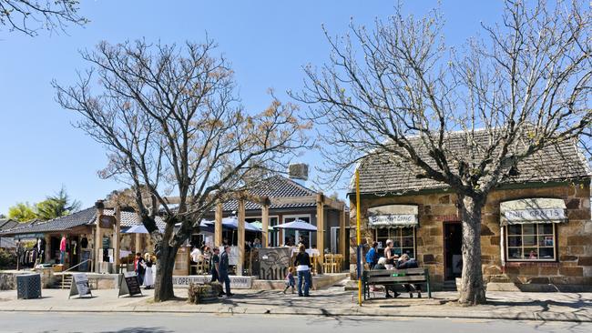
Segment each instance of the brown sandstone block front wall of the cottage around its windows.
[[[506,262],[502,267],[500,248],[500,213],[502,201],[526,197],[555,197],[566,202],[569,221],[556,225],[556,262]],[[428,195],[398,197],[362,197],[362,238],[373,241],[373,229],[368,227],[369,207],[383,205],[418,205],[419,227],[415,244],[417,259],[428,267],[434,287],[444,282],[443,223],[458,221],[456,197],[445,191]],[[355,263],[355,197],[351,202],[351,258]],[[502,189],[492,192],[483,210],[481,250],[485,280],[509,278],[517,283],[553,283],[558,285],[592,285],[592,222],[590,221],[590,187],[585,184]],[[368,247],[364,247],[367,251]],[[355,265],[351,266],[352,275]]]

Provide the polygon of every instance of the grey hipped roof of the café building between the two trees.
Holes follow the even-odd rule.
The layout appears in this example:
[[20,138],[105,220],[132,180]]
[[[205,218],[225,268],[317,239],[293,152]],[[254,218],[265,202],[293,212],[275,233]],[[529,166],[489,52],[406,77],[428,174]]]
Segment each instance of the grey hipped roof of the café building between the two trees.
[[[283,176],[272,176],[260,183],[258,187],[252,188],[250,194],[267,197],[308,197],[316,195],[316,192],[308,187],[303,187],[290,178]],[[226,201],[222,206],[224,211],[233,211],[239,209],[237,200]],[[271,205],[270,209],[277,208],[300,208],[316,207],[316,203],[311,204],[286,204]],[[261,206],[254,202],[245,202],[245,210],[259,210]]]

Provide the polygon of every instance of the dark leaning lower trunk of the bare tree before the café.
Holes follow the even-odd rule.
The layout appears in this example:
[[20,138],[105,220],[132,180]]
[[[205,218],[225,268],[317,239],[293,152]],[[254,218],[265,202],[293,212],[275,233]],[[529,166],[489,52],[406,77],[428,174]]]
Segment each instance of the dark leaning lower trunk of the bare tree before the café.
[[178,247],[170,247],[162,240],[157,260],[157,278],[154,285],[154,301],[161,302],[175,298],[173,292],[173,268]]

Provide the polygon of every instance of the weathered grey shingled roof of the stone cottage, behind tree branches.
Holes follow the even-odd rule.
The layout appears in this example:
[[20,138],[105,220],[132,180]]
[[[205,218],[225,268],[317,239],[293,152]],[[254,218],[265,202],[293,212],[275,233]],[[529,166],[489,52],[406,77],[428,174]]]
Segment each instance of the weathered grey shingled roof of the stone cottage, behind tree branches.
[[[450,152],[458,156],[477,154],[475,145],[487,145],[488,138],[485,131],[477,133],[474,145],[467,143],[465,137],[464,133],[451,133],[446,138],[445,145]],[[417,146],[419,156],[437,169],[434,159],[428,155],[419,137],[413,137],[411,142],[413,146]],[[362,160],[359,165],[360,193],[384,196],[448,187],[432,179],[415,177],[419,170],[417,166],[389,157],[386,154],[374,154]],[[518,175],[505,181],[505,184],[546,183],[590,177],[590,169],[585,157],[578,150],[576,142],[570,140],[556,146],[546,146],[533,156],[526,157],[518,163],[517,171]],[[355,188],[351,187],[350,193],[354,192]]]

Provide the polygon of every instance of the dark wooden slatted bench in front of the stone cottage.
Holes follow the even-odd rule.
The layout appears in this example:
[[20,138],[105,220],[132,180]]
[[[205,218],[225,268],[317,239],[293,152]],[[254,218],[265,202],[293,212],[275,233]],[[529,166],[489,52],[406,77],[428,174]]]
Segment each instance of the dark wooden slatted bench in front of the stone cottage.
[[[427,268],[408,268],[408,269],[371,269],[363,272],[363,298],[370,298],[370,286],[382,285],[385,288],[396,285],[413,284],[424,285],[427,291],[427,297],[432,298],[430,290],[430,275]],[[419,294],[419,290],[414,290]],[[413,292],[413,290],[411,291]]]

